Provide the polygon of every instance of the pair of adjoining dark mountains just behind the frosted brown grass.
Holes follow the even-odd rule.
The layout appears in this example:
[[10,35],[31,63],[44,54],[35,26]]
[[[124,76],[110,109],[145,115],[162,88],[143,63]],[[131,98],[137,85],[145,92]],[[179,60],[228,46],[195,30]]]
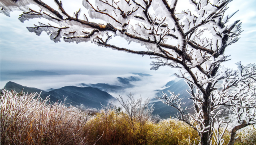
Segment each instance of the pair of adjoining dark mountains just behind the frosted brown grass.
[[47,96],[50,96],[50,102],[56,102],[57,100],[64,101],[65,96],[67,97],[65,103],[71,103],[72,105],[84,104],[93,108],[101,108],[101,104],[107,105],[108,101],[116,100],[109,93],[93,87],[66,86],[46,92],[38,88],[22,86],[15,82],[7,82],[5,88],[6,90],[15,90],[16,92],[21,92],[22,88],[24,88],[23,92],[27,93],[40,93],[42,91],[40,97],[45,99]]

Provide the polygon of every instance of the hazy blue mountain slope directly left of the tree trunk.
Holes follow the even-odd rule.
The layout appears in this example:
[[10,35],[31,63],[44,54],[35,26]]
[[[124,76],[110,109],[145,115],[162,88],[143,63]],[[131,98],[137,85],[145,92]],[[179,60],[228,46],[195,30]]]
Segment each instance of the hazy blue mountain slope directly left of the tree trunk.
[[[177,82],[170,81],[166,85],[170,86],[163,90],[158,90],[158,93],[156,93],[157,96],[162,95],[162,92],[167,93],[167,95],[170,95],[170,93],[168,92],[168,90],[170,90],[171,92],[174,92],[176,95],[180,94],[180,98],[184,98],[182,102],[186,103],[182,107],[190,108],[193,106],[193,101],[188,99],[190,98],[190,95],[186,91],[189,90],[189,87],[183,79]],[[150,105],[154,104],[155,107],[153,114],[159,114],[161,118],[170,118],[170,116],[175,117],[175,114],[177,115],[178,111],[175,108],[162,103],[156,98],[153,98],[152,101],[155,101],[150,103]],[[190,113],[193,113],[193,111],[190,111]]]

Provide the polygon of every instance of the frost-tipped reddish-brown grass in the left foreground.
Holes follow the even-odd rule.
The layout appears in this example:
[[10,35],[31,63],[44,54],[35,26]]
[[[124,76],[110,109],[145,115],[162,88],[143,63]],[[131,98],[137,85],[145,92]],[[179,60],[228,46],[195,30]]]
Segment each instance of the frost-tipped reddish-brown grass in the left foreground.
[[62,102],[49,104],[37,93],[1,92],[1,144],[81,144],[88,116]]

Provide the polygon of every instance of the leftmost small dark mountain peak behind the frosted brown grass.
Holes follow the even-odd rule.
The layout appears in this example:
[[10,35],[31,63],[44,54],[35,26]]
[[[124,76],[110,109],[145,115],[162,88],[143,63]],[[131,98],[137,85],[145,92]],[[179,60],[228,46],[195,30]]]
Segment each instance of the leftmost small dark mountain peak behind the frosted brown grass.
[[23,92],[26,92],[28,94],[34,93],[34,92],[37,92],[39,94],[41,91],[42,91],[41,94],[46,93],[46,91],[44,90],[40,90],[38,88],[33,88],[33,87],[22,86],[20,84],[16,84],[15,82],[11,82],[11,81],[7,82],[4,88],[6,88],[6,90],[9,90],[9,91],[15,90],[16,92],[21,92],[23,89]]

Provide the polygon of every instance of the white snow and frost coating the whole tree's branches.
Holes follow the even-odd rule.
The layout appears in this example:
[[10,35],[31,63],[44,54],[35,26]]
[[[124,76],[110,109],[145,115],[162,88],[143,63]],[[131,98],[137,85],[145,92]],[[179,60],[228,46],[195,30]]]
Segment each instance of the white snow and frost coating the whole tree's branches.
[[[135,2],[141,6],[138,6]],[[174,2],[175,0],[169,1],[171,8],[174,6]],[[210,128],[213,128],[214,130],[216,127],[218,128],[220,126],[224,127],[225,131],[228,123],[223,120],[218,120],[217,118],[222,110],[219,110],[217,113],[214,112],[223,105],[229,105],[239,123],[242,123],[242,120],[246,120],[248,124],[254,124],[256,123],[256,65],[241,65],[241,63],[238,63],[238,70],[230,70],[220,66],[217,75],[210,75],[215,67],[219,66],[228,58],[225,55],[215,55],[218,53],[222,45],[223,36],[228,34],[223,32],[230,29],[233,24],[236,24],[236,26],[230,31],[230,37],[227,41],[227,45],[235,43],[242,32],[241,23],[238,21],[224,27],[220,27],[218,23],[220,21],[224,23],[227,22],[237,11],[230,16],[225,16],[224,11],[213,6],[220,5],[224,1],[210,0],[210,3],[213,5],[207,3],[206,0],[197,0],[196,2],[201,2],[199,10],[197,9],[197,6],[190,2],[190,5],[195,6],[194,9],[186,8],[185,10],[175,12],[175,16],[179,19],[178,22],[181,25],[182,30],[180,31],[185,34],[186,32],[190,32],[187,36],[182,36],[183,33],[178,31],[178,27],[175,25],[174,19],[171,17],[170,12],[166,9],[166,6],[161,0],[153,0],[147,14],[144,14],[143,12],[146,7],[143,0],[129,1],[128,3],[125,0],[120,0],[119,2],[107,0],[82,1],[82,6],[84,6],[88,11],[86,11],[86,13],[84,11],[80,11],[78,17],[85,14],[87,18],[89,18],[89,22],[100,19],[103,21],[103,24],[100,24],[102,27],[106,27],[107,24],[111,24],[117,30],[116,32],[111,30],[101,31],[101,29],[96,29],[86,25],[87,19],[85,16],[83,21],[86,21],[85,24],[82,24],[79,21],[65,20],[68,17],[62,14],[60,10],[58,11],[63,18],[58,21],[56,19],[61,18],[56,17],[43,6],[38,6],[32,0],[19,0],[16,3],[9,0],[1,1],[1,7],[3,9],[1,12],[10,16],[10,12],[12,11],[20,10],[28,12],[31,5],[37,5],[34,7],[34,10],[42,15],[23,14],[25,17],[20,18],[21,22],[33,18],[45,18],[50,21],[49,24],[39,22],[39,25],[27,28],[28,31],[33,32],[36,35],[40,35],[42,32],[47,32],[49,38],[54,42],[60,42],[62,39],[64,42],[76,43],[90,41],[102,47],[105,45],[97,43],[98,41],[101,42],[100,38],[102,38],[105,43],[108,35],[112,35],[111,39],[115,39],[115,36],[119,36],[129,43],[135,42],[144,45],[149,52],[164,55],[165,58],[159,57],[160,55],[151,57],[151,59],[156,59],[157,61],[153,62],[152,69],[156,70],[161,65],[182,68],[181,75],[179,75],[179,77],[186,79],[188,83],[195,86],[195,88],[190,90],[195,91],[194,95],[192,95],[192,92],[189,94],[191,95],[194,104],[198,106],[199,112],[196,112],[195,114],[188,113],[186,116],[182,116],[182,114],[190,108],[182,108],[181,106],[184,104],[182,102],[183,98],[180,98],[179,94],[175,95],[174,92],[169,92],[170,95],[163,93],[163,95],[159,96],[158,99],[165,104],[176,107],[180,112],[180,114],[178,114],[180,119],[189,117],[194,122],[197,122],[198,124],[196,128],[199,135],[209,131]],[[43,14],[43,12],[50,16]],[[224,19],[220,20],[220,16],[213,18],[215,14],[212,14],[214,12],[219,13],[218,15],[223,16]],[[134,16],[143,17],[144,20],[135,18]],[[52,17],[55,17],[55,19]],[[75,18],[75,14],[73,15],[73,18]],[[148,20],[148,18],[150,20]],[[157,23],[160,25],[156,25]],[[162,27],[162,25],[164,25],[164,27]],[[97,32],[95,32],[95,30],[97,30]],[[91,34],[92,32],[94,32],[94,34]],[[174,39],[174,37],[171,36],[165,36],[168,33],[177,36],[178,39]],[[129,37],[128,34],[133,37],[137,37],[138,39]],[[162,37],[164,37],[164,39],[162,39]],[[145,41],[143,41],[143,39]],[[187,45],[186,48],[182,48],[183,44],[186,45],[187,43],[184,39],[214,53],[212,54],[207,51],[195,49],[190,45]],[[108,44],[109,42],[106,43]],[[173,47],[177,47],[179,50],[186,52],[191,60],[185,60],[186,58],[183,58],[184,55],[178,54],[178,51],[175,52],[175,50],[161,47],[161,49],[165,50],[165,52],[163,52],[159,49],[159,44],[169,44]],[[168,57],[171,57],[173,60]],[[175,59],[182,62],[184,61],[186,68],[191,70],[191,74],[188,75],[185,65],[182,63],[179,64],[178,61],[175,62]],[[203,71],[201,71],[201,69],[203,69]],[[196,79],[192,79],[192,75],[194,75]],[[197,82],[194,82],[195,80]],[[209,101],[213,102],[213,108],[210,109],[210,117],[212,117],[212,120],[211,124],[206,126],[204,124],[202,110],[206,100],[204,100],[205,97],[203,96],[204,94],[202,90],[206,90],[206,87],[209,84],[215,84],[215,86],[211,86],[213,91],[211,91],[209,95],[212,97],[209,98]],[[217,126],[214,126],[216,124]],[[220,133],[219,130],[214,130],[214,140],[216,143],[223,144],[223,132]]]

